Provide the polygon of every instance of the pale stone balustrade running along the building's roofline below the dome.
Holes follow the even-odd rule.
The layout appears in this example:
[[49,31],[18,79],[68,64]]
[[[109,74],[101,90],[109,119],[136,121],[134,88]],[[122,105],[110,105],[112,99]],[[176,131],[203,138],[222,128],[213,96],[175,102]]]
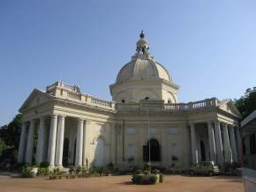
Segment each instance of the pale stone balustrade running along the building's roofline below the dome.
[[212,98],[189,103],[163,103],[163,100],[141,100],[139,103],[115,103],[82,94],[79,91],[79,86],[68,85],[63,82],[56,82],[53,85],[47,86],[46,91],[57,99],[70,100],[82,105],[98,107],[116,112],[140,112],[148,110],[179,113],[199,110],[207,107],[215,107],[219,102],[216,98]]

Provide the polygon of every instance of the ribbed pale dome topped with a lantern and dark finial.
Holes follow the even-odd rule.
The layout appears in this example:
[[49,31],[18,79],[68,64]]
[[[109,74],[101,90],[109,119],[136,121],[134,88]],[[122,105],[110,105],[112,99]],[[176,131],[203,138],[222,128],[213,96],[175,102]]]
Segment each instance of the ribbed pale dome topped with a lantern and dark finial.
[[132,61],[124,65],[118,72],[117,83],[121,83],[136,78],[162,78],[172,83],[172,79],[160,63],[154,60],[154,56],[148,52],[149,46],[144,39],[145,35],[142,31],[140,39],[136,43],[137,53],[132,56]]

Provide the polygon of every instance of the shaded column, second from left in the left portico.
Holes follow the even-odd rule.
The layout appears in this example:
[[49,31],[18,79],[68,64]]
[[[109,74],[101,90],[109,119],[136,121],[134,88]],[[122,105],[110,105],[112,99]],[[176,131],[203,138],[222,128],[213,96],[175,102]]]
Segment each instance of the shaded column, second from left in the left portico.
[[30,121],[28,129],[28,137],[26,143],[26,163],[31,164],[33,159],[33,145],[34,145],[34,120]]

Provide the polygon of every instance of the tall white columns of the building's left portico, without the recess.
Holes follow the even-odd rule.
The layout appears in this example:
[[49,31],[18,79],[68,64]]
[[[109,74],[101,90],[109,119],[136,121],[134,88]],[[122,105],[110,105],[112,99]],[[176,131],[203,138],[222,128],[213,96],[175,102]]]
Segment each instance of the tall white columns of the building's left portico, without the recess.
[[[49,133],[47,133],[46,117],[39,118],[36,163],[40,164],[42,161],[47,160],[50,167],[63,167],[65,119],[64,115],[51,114]],[[31,164],[33,161],[35,123],[37,121],[38,119],[32,119],[22,123],[19,139],[19,162]],[[86,126],[84,125],[87,122],[79,118],[77,118],[77,121],[75,166],[83,166],[86,162]],[[47,137],[49,137],[48,143]],[[46,147],[48,147],[47,152],[44,152]]]

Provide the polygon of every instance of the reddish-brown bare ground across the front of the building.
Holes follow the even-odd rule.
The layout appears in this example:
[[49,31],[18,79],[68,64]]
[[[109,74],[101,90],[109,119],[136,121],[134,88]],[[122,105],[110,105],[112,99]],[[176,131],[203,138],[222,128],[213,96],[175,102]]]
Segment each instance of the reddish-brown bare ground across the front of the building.
[[33,179],[0,176],[0,192],[242,192],[240,177],[198,177],[165,175],[164,182],[156,185],[134,185],[131,176],[109,176],[99,178],[78,178],[49,180],[46,177]]

